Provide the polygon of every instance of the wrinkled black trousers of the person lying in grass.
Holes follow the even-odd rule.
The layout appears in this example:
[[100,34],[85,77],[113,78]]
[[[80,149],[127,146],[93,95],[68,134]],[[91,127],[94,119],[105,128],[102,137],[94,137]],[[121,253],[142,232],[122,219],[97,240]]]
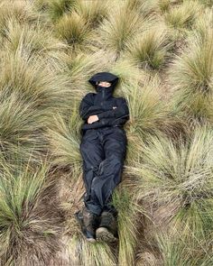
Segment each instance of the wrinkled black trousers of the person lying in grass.
[[125,130],[117,126],[88,129],[82,136],[84,203],[98,216],[104,210],[116,214],[111,200],[114,188],[121,181],[126,143]]

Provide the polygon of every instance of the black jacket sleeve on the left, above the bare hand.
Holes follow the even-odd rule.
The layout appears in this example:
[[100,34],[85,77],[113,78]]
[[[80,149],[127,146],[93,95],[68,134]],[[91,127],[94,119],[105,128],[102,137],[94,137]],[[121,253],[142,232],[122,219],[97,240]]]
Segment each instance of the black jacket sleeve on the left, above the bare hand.
[[83,97],[79,105],[79,115],[83,120],[88,120],[90,115],[97,115],[98,113],[103,112],[101,106],[93,105],[93,95],[88,93]]

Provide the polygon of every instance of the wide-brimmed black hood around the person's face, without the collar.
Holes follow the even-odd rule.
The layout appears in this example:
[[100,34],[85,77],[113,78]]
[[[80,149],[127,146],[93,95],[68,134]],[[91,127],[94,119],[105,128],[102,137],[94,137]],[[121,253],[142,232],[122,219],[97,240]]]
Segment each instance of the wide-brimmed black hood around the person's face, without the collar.
[[98,72],[97,74],[95,74],[94,76],[92,76],[91,78],[88,79],[88,82],[95,87],[97,92],[100,92],[101,87],[97,86],[97,81],[107,81],[111,83],[110,87],[107,87],[107,90],[111,92],[111,94],[113,94],[114,89],[116,87],[116,84],[118,82],[118,77],[112,73],[109,72]]

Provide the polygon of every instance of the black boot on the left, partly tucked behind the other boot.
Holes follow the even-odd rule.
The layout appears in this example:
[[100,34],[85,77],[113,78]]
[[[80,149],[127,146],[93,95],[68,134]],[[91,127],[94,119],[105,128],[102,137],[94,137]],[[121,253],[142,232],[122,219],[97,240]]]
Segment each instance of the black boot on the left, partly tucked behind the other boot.
[[88,211],[87,207],[83,207],[82,211],[75,214],[81,231],[89,242],[96,242],[96,229],[99,223],[99,216]]

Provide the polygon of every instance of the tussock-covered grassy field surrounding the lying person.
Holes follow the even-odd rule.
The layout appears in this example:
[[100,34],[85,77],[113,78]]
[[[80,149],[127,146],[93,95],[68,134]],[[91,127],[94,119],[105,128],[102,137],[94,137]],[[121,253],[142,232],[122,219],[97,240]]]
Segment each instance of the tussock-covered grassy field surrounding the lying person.
[[[0,0],[0,265],[213,265],[213,1]],[[88,243],[79,103],[120,78],[118,245]]]

